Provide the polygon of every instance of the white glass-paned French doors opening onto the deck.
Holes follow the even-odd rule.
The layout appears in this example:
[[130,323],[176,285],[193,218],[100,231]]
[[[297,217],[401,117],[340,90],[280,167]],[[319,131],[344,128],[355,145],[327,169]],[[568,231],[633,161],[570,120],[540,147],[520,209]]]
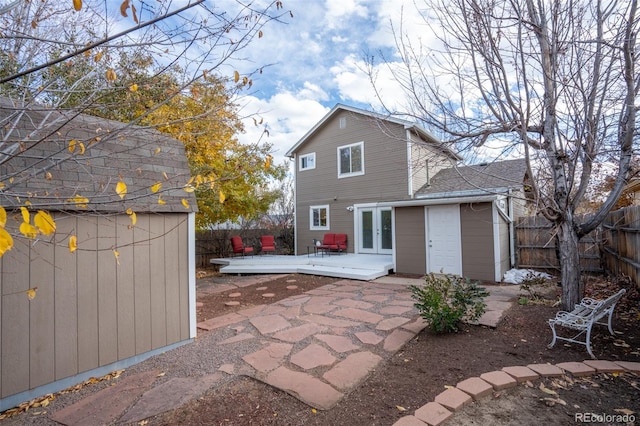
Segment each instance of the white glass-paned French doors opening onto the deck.
[[359,252],[392,254],[393,221],[391,207],[364,207],[358,209],[360,228]]

